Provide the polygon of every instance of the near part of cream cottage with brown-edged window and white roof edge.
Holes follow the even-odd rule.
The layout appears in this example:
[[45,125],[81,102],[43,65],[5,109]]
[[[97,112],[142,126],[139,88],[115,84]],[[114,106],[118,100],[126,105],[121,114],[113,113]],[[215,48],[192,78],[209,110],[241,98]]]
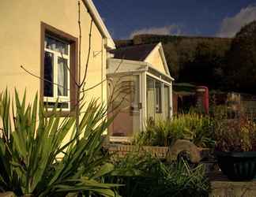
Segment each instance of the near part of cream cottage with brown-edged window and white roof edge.
[[[77,2],[81,2],[80,6]],[[85,88],[106,79],[107,50],[115,49],[92,1],[2,0],[0,9],[0,90],[8,87],[13,91],[16,87],[22,94],[26,89],[29,101],[39,92],[40,99],[49,106],[55,105],[58,98],[62,115],[70,115],[76,106],[78,70],[84,76],[88,52]],[[79,15],[81,68],[78,68]],[[106,83],[87,91],[86,96],[106,102]]]

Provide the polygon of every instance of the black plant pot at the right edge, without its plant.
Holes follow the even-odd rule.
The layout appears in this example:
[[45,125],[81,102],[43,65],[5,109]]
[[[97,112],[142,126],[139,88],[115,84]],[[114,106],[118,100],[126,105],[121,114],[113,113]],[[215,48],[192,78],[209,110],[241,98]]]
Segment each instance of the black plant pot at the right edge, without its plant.
[[219,167],[229,180],[252,180],[256,175],[256,151],[216,151]]

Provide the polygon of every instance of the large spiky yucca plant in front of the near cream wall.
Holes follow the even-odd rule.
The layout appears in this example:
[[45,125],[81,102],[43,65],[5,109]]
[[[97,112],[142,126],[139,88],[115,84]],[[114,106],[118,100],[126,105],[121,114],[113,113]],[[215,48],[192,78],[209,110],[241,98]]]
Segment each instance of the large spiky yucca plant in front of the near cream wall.
[[[115,184],[100,183],[113,165],[100,154],[102,134],[111,120],[96,100],[88,103],[75,132],[74,117],[47,117],[37,95],[26,106],[15,91],[12,105],[7,91],[0,96],[0,189],[18,196],[65,196],[84,192],[115,196]],[[52,114],[55,114],[56,107]],[[71,134],[70,134],[71,131]],[[70,136],[70,137],[69,137]]]

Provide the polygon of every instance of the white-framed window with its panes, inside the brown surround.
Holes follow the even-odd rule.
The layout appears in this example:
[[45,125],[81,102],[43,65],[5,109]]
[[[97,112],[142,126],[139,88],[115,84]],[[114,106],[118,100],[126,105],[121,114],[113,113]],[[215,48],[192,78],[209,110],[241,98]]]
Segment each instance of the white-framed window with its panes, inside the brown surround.
[[[70,44],[51,35],[44,39],[43,101],[51,107],[58,99],[63,110],[70,110]],[[50,103],[50,105],[49,105]]]

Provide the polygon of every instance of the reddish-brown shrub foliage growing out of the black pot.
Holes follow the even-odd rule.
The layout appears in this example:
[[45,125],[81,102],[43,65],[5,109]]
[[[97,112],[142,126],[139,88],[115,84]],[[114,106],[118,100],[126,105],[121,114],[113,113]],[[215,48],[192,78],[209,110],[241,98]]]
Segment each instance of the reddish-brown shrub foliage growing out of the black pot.
[[213,117],[216,151],[255,151],[256,124],[240,107],[215,106]]

